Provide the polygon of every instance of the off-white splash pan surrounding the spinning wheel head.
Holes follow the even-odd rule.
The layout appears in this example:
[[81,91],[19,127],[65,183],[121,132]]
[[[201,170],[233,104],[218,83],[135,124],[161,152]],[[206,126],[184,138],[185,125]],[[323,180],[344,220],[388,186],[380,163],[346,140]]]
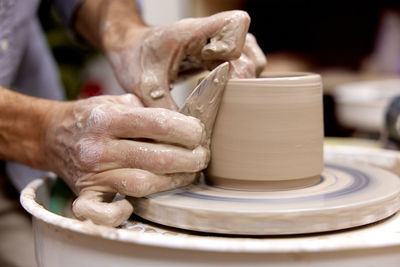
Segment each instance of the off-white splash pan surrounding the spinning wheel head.
[[[325,148],[328,160],[399,170],[397,152]],[[397,266],[400,215],[345,231],[308,235],[230,236],[182,231],[131,218],[121,228],[81,222],[49,211],[54,178],[33,181],[21,195],[33,215],[39,266]]]

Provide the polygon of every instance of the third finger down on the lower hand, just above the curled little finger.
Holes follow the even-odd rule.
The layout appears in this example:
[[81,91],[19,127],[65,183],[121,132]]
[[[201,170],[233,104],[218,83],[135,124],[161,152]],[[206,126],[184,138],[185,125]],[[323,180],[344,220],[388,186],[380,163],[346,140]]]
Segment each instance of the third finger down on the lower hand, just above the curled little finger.
[[97,185],[101,190],[143,197],[186,186],[192,183],[195,177],[195,173],[160,175],[141,169],[114,169],[95,174],[90,180],[93,181],[92,185]]

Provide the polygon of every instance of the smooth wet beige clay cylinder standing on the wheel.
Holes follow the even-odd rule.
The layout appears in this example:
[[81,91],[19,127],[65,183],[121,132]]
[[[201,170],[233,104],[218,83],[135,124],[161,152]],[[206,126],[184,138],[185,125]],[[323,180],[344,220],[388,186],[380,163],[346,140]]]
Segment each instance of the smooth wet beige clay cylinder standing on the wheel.
[[247,189],[312,183],[323,168],[323,135],[318,74],[230,80],[213,129],[207,181]]

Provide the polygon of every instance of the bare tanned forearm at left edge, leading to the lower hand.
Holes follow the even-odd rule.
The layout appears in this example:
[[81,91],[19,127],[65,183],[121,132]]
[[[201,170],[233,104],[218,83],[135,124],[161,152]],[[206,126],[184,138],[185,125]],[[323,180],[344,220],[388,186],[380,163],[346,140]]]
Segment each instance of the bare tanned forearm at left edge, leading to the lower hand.
[[44,131],[54,101],[25,96],[0,86],[0,158],[44,168]]

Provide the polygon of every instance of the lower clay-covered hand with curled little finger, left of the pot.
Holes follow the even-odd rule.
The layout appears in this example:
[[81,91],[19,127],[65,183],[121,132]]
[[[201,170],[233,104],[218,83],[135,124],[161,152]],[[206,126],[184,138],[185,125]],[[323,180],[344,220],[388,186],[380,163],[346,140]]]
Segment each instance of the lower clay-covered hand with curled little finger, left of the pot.
[[105,203],[104,192],[141,197],[184,186],[208,162],[198,119],[144,108],[131,94],[61,104],[48,125],[49,165],[79,195],[75,215],[97,224],[117,226],[132,213],[127,200]]

